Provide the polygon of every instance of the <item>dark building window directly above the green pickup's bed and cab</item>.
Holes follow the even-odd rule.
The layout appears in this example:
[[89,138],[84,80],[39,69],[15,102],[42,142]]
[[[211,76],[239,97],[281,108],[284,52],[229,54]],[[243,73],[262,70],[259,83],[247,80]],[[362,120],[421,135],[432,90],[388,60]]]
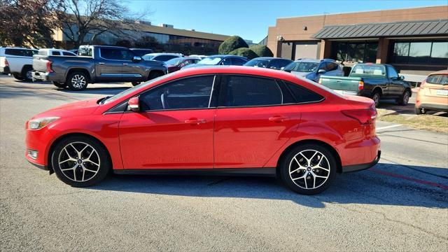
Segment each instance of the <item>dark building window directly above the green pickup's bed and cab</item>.
[[342,62],[375,62],[377,42],[333,42],[332,58]]

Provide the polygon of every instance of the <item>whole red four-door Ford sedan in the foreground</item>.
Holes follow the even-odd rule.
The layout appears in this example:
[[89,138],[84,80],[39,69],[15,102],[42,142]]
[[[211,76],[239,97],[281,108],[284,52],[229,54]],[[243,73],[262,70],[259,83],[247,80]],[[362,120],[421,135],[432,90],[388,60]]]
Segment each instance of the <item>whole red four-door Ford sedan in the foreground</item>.
[[280,176],[320,193],[380,156],[371,99],[244,66],[179,71],[27,122],[29,162],[71,186],[116,174]]

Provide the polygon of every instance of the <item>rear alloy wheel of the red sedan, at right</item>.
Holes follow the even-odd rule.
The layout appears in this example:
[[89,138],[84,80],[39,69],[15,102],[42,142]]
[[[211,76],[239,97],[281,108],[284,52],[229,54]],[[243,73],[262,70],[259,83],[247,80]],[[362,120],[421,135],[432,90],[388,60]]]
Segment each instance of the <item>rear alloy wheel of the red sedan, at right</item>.
[[296,186],[311,190],[322,186],[330,176],[330,162],[321,152],[304,150],[289,163],[289,176]]

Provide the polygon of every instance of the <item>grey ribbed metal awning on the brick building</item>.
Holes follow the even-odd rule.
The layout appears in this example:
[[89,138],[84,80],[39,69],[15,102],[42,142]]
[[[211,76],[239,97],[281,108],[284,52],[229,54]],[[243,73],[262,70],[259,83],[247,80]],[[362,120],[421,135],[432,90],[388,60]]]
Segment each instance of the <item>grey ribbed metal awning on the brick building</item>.
[[389,22],[323,27],[313,38],[375,38],[389,36],[448,36],[448,20]]

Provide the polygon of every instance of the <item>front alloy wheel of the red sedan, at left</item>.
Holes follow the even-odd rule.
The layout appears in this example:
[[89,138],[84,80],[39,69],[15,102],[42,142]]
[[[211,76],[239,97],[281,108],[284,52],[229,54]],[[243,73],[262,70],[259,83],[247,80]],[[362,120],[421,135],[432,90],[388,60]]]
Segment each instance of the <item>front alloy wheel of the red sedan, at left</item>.
[[99,172],[101,161],[97,150],[81,141],[72,142],[62,148],[57,162],[67,179],[85,182]]

